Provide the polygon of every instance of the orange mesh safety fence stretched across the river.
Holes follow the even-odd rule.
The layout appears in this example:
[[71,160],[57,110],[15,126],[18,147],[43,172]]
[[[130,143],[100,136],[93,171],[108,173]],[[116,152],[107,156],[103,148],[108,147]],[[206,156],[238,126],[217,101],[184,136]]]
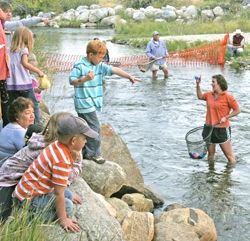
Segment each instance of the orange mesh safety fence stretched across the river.
[[[170,52],[167,64],[174,66],[224,65],[228,40],[229,33],[222,40],[183,51]],[[47,68],[63,72],[70,71],[74,63],[82,58],[82,55],[46,53],[43,54],[43,57],[47,59]],[[132,55],[111,58],[109,64],[119,67],[137,67],[139,64],[148,61],[146,55]]]

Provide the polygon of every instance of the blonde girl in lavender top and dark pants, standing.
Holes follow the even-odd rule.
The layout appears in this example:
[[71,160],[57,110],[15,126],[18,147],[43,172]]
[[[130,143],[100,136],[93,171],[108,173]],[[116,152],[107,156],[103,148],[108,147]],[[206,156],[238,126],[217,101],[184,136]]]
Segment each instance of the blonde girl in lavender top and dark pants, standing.
[[40,111],[32,87],[30,71],[43,77],[44,73],[28,62],[34,44],[33,33],[26,27],[18,28],[10,47],[10,78],[7,79],[7,90],[10,103],[19,96],[30,98],[34,103],[35,122],[39,122]]

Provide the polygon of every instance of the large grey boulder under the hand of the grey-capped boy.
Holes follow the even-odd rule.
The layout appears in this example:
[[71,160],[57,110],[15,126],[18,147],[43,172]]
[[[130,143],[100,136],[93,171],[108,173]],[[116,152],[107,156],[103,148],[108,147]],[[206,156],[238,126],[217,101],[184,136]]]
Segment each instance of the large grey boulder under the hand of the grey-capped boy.
[[78,178],[70,189],[80,195],[82,204],[75,205],[73,219],[81,227],[79,233],[66,233],[58,224],[45,226],[46,241],[124,241],[119,222],[112,215],[110,204],[94,193],[87,183]]

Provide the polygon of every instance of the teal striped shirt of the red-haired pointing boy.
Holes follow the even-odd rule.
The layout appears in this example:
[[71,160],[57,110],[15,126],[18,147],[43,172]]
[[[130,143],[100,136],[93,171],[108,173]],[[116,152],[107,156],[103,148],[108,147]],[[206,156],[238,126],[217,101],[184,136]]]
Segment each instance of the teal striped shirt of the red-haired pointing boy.
[[103,77],[112,75],[110,65],[100,63],[94,65],[86,57],[76,62],[71,70],[69,82],[80,79],[92,70],[95,73],[93,80],[75,85],[74,103],[77,113],[90,113],[101,110],[103,105]]

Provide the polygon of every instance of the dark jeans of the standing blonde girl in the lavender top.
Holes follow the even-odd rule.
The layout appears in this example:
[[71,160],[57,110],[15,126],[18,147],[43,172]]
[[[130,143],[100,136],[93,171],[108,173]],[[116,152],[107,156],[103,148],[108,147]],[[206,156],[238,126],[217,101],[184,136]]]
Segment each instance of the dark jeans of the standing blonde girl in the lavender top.
[[22,91],[10,90],[10,91],[8,91],[8,94],[9,94],[9,104],[11,104],[12,101],[15,100],[19,96],[31,99],[33,104],[34,104],[35,123],[40,122],[39,102],[36,100],[35,93],[34,93],[33,89],[22,90]]

